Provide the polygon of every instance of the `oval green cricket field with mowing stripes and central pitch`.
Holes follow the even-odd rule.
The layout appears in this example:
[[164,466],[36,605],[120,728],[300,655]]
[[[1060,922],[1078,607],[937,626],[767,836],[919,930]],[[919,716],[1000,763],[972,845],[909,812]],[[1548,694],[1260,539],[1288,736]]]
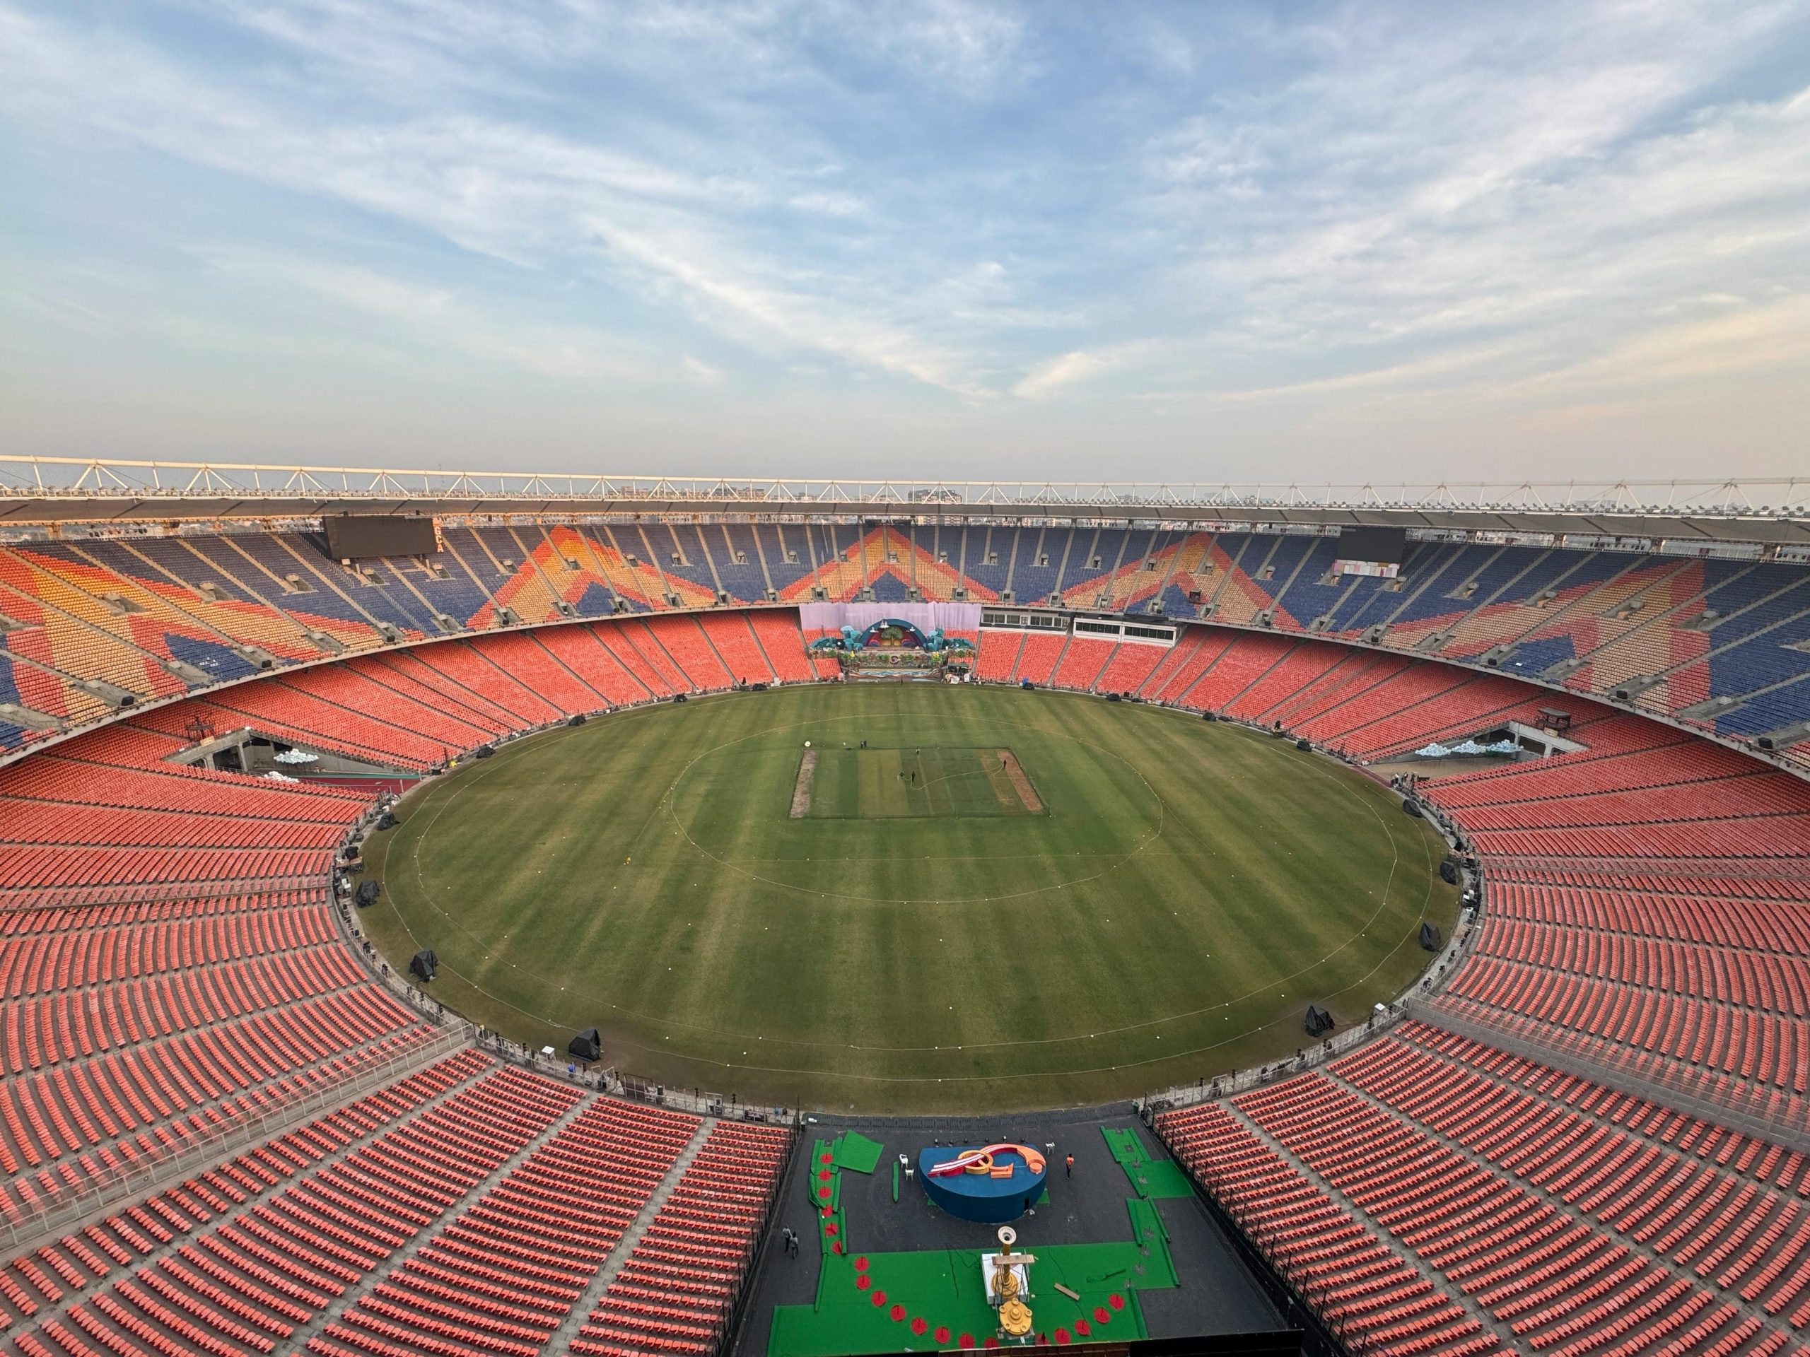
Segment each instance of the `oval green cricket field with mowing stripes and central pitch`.
[[805,1107],[1052,1107],[1287,1055],[1309,1001],[1361,1020],[1457,910],[1437,834],[1350,769],[1010,688],[626,711],[398,818],[364,923],[391,964],[434,948],[449,1008],[559,1049],[597,1024],[623,1071]]

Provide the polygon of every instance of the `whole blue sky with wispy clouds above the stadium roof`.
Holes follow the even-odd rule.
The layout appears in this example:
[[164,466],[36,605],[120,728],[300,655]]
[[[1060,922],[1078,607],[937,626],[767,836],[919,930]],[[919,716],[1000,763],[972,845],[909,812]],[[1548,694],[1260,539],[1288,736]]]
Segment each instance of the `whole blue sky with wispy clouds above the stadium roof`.
[[1810,476],[1810,0],[0,0],[0,452]]

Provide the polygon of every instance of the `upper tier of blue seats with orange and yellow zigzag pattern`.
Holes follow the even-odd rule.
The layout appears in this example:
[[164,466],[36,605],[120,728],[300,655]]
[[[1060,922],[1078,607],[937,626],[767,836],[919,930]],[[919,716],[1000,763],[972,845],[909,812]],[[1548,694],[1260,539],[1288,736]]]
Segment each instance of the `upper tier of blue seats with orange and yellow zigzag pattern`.
[[[168,697],[248,677],[259,664],[449,628],[603,619],[619,608],[700,610],[724,595],[758,604],[769,590],[782,601],[871,590],[881,601],[957,592],[997,601],[1010,592],[1019,603],[1059,595],[1072,608],[1144,613],[1155,604],[1173,621],[1211,617],[1278,635],[1365,637],[1394,651],[1488,659],[1504,673],[1578,693],[1625,686],[1640,707],[1738,740],[1781,731],[1810,711],[1810,572],[1796,563],[1415,541],[1401,575],[1379,579],[1332,575],[1334,539],[1289,534],[655,523],[447,525],[442,537],[445,550],[434,555],[357,568],[328,559],[315,534],[0,548],[0,613],[9,619],[0,702],[34,713],[20,722],[0,711],[0,747],[42,738],[43,720],[105,715],[109,698],[81,688],[87,678],[139,698]],[[1041,650],[1026,677],[1046,682]],[[1084,655],[1055,682],[1095,684],[1097,675],[1079,673]],[[1238,715],[1323,655],[1294,653],[1289,673],[1249,693]],[[726,686],[720,664],[744,680],[758,669],[751,655],[713,664],[700,653],[693,682],[666,675],[666,686]],[[1216,709],[1238,697],[1211,684],[1195,706]],[[1786,756],[1810,760],[1810,744]]]

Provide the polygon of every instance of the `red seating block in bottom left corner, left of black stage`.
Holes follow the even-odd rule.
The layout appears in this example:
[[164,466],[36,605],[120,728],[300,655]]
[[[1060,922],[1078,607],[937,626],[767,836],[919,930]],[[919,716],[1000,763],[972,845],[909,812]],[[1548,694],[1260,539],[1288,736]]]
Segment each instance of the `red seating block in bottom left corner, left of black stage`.
[[[576,1306],[693,1143],[586,1319]],[[0,1344],[534,1357],[563,1326],[661,1332],[650,1292],[720,1333],[789,1145],[463,1049],[14,1257]]]

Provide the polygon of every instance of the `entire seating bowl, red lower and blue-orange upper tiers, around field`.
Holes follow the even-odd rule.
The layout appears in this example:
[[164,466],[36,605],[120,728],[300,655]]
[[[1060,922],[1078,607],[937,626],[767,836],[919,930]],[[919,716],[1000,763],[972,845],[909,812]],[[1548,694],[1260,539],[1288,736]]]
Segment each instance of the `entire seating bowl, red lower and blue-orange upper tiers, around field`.
[[[1426,765],[1484,883],[1443,990],[1146,1106],[1321,1341],[1810,1352],[1810,568],[1421,534],[1365,575],[1309,532],[791,517],[449,519],[349,565],[311,527],[14,523],[0,1348],[720,1350],[796,1127],[476,1046],[349,944],[333,865],[376,787],[498,738],[833,677],[800,603],[961,597],[981,678],[1359,764],[1562,751]],[[282,767],[319,774],[252,776]]]

